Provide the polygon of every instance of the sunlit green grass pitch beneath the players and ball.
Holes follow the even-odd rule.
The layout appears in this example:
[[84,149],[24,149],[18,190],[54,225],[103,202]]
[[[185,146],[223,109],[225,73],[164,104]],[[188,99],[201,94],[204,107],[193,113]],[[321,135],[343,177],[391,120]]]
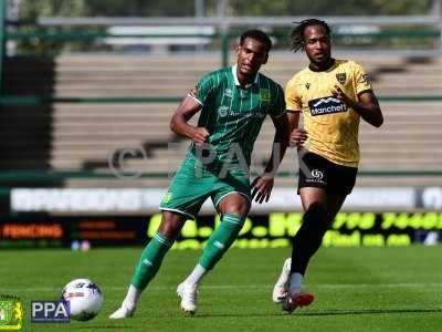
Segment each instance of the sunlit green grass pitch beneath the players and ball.
[[[200,251],[170,251],[135,317],[118,308],[141,248],[2,250],[1,294],[23,302],[23,331],[442,331],[442,246],[322,248],[307,271],[315,302],[292,315],[271,301],[290,249],[231,249],[208,274],[194,317],[179,309],[177,284]],[[65,283],[90,278],[105,293],[92,321],[30,323],[31,300],[56,300]]]

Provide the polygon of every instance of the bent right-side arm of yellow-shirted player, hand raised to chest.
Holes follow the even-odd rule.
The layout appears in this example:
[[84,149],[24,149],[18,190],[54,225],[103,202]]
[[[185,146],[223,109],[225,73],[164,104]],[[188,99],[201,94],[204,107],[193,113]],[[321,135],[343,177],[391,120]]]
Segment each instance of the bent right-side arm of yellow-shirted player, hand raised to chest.
[[378,98],[371,91],[365,91],[358,95],[359,102],[355,102],[347,96],[339,86],[332,89],[332,93],[348,107],[351,107],[359,115],[375,127],[380,127],[383,123],[382,112],[380,111]]

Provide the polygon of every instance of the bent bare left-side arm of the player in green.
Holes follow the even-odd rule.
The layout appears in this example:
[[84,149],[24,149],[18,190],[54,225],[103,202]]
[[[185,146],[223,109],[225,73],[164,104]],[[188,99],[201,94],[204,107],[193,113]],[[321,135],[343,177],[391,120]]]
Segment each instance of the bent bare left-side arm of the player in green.
[[170,129],[177,135],[190,138],[196,144],[204,143],[209,137],[208,129],[188,124],[188,121],[201,108],[201,104],[194,98],[186,96],[170,120]]

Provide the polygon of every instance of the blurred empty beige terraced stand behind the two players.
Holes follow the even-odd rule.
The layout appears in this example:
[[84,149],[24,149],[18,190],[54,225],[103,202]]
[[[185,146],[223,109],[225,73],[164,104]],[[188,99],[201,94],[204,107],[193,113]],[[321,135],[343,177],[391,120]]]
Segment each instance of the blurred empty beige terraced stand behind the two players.
[[[371,73],[379,96],[442,95],[442,59],[355,55]],[[59,97],[183,96],[197,77],[219,68],[219,54],[169,56],[61,55],[55,59],[11,58],[6,65],[6,94]],[[275,52],[263,72],[281,84],[305,65],[302,55]],[[6,106],[0,112],[0,169],[108,172],[115,152],[141,147],[125,162],[126,170],[173,172],[188,142],[170,133],[178,102],[53,103]],[[441,101],[381,102],[385,125],[360,126],[362,170],[419,170],[442,166]],[[255,144],[253,169],[261,169],[273,138],[267,120]],[[169,144],[173,144],[173,148]],[[112,159],[112,157],[110,157]],[[281,170],[296,169],[290,151]],[[69,179],[67,187],[167,186],[157,179]],[[276,185],[292,186],[293,177]],[[441,177],[359,177],[359,186],[442,185]]]

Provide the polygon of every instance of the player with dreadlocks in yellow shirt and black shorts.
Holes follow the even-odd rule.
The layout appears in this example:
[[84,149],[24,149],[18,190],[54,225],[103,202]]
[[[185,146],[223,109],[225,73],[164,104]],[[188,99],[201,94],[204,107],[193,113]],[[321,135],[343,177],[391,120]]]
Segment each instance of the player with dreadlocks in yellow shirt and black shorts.
[[[285,89],[291,143],[298,148],[298,194],[303,224],[293,239],[292,257],[273,290],[273,301],[291,313],[313,302],[302,292],[309,259],[355,186],[359,163],[360,117],[379,127],[382,113],[364,68],[332,58],[330,29],[324,21],[302,21],[293,30],[291,46],[305,51],[309,65],[296,73]],[[298,128],[299,115],[304,128]]]

